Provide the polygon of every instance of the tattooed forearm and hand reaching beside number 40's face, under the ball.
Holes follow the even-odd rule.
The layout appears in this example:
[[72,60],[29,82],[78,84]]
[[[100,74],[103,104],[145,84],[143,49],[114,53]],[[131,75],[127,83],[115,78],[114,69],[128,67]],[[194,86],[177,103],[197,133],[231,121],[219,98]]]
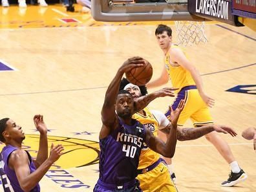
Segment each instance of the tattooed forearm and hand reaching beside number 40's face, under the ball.
[[153,100],[155,100],[155,98],[161,98],[161,97],[165,97],[165,96],[170,96],[170,97],[174,97],[174,91],[177,90],[176,88],[163,88],[160,89],[159,91],[153,92],[151,94],[147,94],[145,96],[142,96],[140,98],[136,98],[134,100],[134,113],[141,111],[142,109],[144,109],[145,107],[147,107],[147,105],[149,105],[149,103]]

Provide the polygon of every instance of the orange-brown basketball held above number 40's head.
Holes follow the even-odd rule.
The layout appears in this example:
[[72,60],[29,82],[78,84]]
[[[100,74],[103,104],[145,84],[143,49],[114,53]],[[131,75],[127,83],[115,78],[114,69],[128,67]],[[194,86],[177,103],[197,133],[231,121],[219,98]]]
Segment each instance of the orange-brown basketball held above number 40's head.
[[147,84],[153,75],[153,68],[149,61],[145,60],[145,65],[131,69],[125,73],[127,80],[134,85],[142,86]]

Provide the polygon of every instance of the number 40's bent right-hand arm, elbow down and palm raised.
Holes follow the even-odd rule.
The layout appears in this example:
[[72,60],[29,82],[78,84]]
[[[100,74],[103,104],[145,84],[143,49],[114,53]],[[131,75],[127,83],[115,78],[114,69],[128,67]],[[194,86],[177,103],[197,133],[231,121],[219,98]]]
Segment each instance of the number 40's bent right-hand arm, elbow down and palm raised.
[[[173,157],[175,154],[175,147],[176,147],[176,130],[177,130],[177,122],[178,117],[180,116],[180,112],[184,108],[184,100],[181,100],[178,104],[178,107],[173,111],[173,122],[171,123],[170,132],[167,136],[167,141],[164,143],[160,138],[157,138],[153,135],[150,130],[146,129],[146,138],[145,143],[149,146],[150,149],[155,151],[156,153],[160,153],[166,157]],[[171,109],[172,110],[172,109]]]

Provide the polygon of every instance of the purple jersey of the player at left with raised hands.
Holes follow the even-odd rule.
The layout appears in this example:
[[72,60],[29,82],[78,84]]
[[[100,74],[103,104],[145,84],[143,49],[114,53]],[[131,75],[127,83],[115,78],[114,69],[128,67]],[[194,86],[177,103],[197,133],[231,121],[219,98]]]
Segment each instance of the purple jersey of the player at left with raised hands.
[[[16,149],[19,149],[17,147],[14,147],[12,145],[7,145],[3,147],[3,150],[0,155],[0,160],[1,160],[1,166],[0,166],[0,174],[1,174],[1,180],[3,184],[3,188],[5,192],[23,192],[21,189],[21,186],[19,186],[19,181],[17,180],[17,176],[15,174],[15,171],[10,169],[8,167],[8,157],[10,154],[15,151]],[[27,152],[27,151],[26,151]],[[33,173],[36,170],[36,166],[34,165],[34,162],[32,162],[32,158],[28,154],[28,158],[30,160],[30,173]],[[34,187],[30,192],[39,192],[40,191],[40,186],[39,184]]]

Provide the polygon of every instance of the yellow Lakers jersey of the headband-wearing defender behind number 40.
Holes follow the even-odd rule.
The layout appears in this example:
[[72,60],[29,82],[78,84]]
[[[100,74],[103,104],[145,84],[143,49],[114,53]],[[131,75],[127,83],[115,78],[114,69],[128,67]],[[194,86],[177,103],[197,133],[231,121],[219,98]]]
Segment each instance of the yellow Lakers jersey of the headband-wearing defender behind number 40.
[[[157,131],[159,127],[158,121],[147,107],[143,111],[145,115],[136,112],[133,115],[133,118],[144,124],[146,129],[149,129],[155,136],[157,136]],[[138,169],[145,169],[145,167],[152,165],[159,158],[160,155],[158,153],[152,151],[151,149],[149,149],[149,147],[147,147],[147,145],[144,144],[144,149],[142,149],[142,152],[140,153]]]

